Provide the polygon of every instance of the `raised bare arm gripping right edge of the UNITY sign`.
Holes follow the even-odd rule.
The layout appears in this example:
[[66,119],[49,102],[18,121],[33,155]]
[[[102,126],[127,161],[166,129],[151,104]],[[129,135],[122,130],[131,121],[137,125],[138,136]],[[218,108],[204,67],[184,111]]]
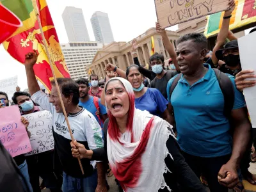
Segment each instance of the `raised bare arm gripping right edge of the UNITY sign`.
[[[220,28],[220,33],[217,36],[217,41],[215,44],[215,47],[212,50],[212,63],[214,63],[215,67],[218,67],[218,58],[216,58],[216,51],[221,49],[221,47],[225,44],[225,40],[228,36],[228,29],[229,29],[229,23],[230,23],[230,16],[234,9],[236,8],[236,3],[234,0],[229,0],[228,6],[230,7],[229,10],[225,11],[223,15],[223,21]],[[227,19],[224,19],[227,17]],[[228,18],[229,17],[229,18]]]

